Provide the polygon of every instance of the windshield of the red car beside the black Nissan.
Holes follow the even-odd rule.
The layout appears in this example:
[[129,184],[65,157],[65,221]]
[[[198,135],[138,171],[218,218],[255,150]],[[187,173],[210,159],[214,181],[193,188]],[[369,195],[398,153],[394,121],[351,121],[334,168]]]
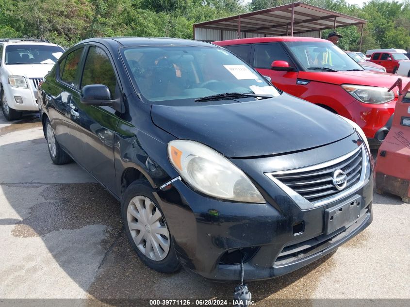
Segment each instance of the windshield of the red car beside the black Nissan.
[[[363,70],[342,49],[330,42],[285,42],[306,70],[328,67],[334,70]],[[326,71],[326,70],[323,70]]]

